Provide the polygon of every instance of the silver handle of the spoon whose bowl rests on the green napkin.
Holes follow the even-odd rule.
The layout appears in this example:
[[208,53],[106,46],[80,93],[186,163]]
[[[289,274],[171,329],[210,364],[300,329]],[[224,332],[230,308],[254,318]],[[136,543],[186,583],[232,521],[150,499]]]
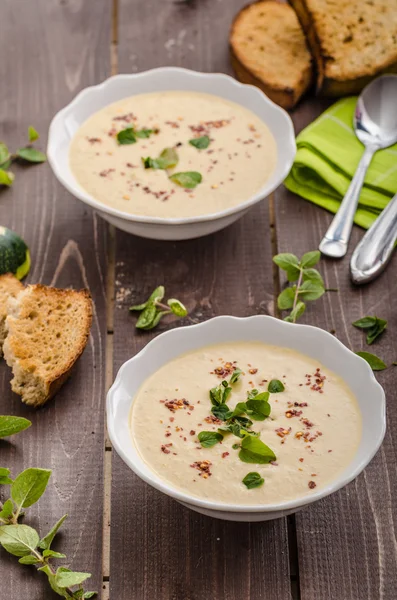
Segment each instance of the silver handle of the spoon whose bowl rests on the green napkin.
[[319,250],[326,256],[342,258],[346,254],[365,174],[377,149],[374,146],[367,146],[365,148],[340,208],[333,218],[327,233],[320,242]]

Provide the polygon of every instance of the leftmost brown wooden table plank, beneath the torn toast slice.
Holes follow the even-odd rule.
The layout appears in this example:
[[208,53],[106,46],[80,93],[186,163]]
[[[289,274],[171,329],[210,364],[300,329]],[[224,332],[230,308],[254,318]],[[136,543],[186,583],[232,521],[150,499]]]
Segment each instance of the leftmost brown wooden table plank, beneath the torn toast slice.
[[[52,116],[82,87],[109,73],[110,7],[107,0],[70,3],[5,0],[1,10],[0,139],[26,141],[28,125],[44,149]],[[102,465],[106,227],[89,208],[57,184],[48,164],[16,168],[11,190],[0,192],[0,223],[30,246],[29,282],[90,289],[95,314],[88,346],[70,382],[43,409],[22,405],[10,390],[10,370],[0,365],[0,412],[32,420],[32,427],[0,444],[0,463],[17,474],[28,466],[53,470],[45,495],[27,510],[26,522],[42,533],[64,513],[69,519],[56,547],[76,570],[102,587]],[[0,552],[7,598],[59,598],[44,575]]]

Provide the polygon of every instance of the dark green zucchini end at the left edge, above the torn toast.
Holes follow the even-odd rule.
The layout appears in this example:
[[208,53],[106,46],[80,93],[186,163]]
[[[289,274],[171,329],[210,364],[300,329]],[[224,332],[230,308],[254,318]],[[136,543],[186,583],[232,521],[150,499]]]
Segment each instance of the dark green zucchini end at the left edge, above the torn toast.
[[23,279],[30,269],[29,248],[19,235],[0,226],[0,275],[13,273]]

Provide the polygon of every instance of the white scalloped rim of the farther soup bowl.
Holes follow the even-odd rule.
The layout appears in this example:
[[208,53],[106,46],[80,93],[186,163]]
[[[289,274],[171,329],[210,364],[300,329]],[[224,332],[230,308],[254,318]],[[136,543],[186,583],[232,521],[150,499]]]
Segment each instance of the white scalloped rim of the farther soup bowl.
[[[241,202],[240,204],[237,204],[236,206],[226,208],[226,209],[224,209],[222,211],[218,211],[216,213],[208,213],[205,215],[197,215],[194,217],[169,218],[169,219],[164,218],[164,217],[150,217],[150,216],[144,216],[144,215],[134,215],[131,213],[126,213],[121,210],[112,208],[110,206],[107,206],[106,204],[102,204],[101,202],[96,200],[93,196],[91,196],[90,194],[85,192],[85,190],[80,186],[80,184],[77,182],[77,180],[75,180],[73,175],[72,175],[72,180],[73,180],[73,185],[72,185],[68,176],[65,176],[63,168],[59,164],[59,161],[56,158],[56,149],[55,149],[55,140],[54,140],[54,138],[56,137],[56,134],[55,134],[56,129],[63,125],[65,117],[67,115],[69,115],[71,112],[73,112],[75,107],[78,106],[86,98],[88,98],[91,94],[105,92],[108,87],[110,87],[114,84],[114,82],[117,82],[120,80],[131,80],[133,82],[133,81],[137,81],[139,79],[144,79],[144,78],[150,78],[150,77],[155,78],[157,74],[164,73],[164,72],[166,72],[166,73],[172,72],[172,73],[178,74],[181,78],[196,77],[196,78],[203,78],[203,79],[217,78],[217,79],[223,80],[225,82],[225,85],[231,85],[236,88],[242,88],[242,89],[245,89],[247,91],[247,93],[249,93],[249,94],[255,94],[258,98],[260,98],[260,100],[263,103],[268,104],[269,107],[271,107],[275,112],[278,112],[280,115],[282,115],[283,118],[285,119],[285,122],[289,129],[288,139],[286,141],[286,147],[288,146],[289,159],[285,160],[284,165],[281,167],[279,177],[277,177],[277,179],[275,179],[274,181],[273,181],[273,176],[270,177],[269,181],[272,182],[271,185],[269,185],[268,182],[265,182],[265,184],[262,186],[262,188],[259,190],[259,192],[257,194],[251,196],[248,200],[245,200],[244,202]],[[181,85],[182,85],[182,83],[181,83]],[[182,88],[180,88],[180,89],[182,89]],[[153,92],[155,92],[155,91],[156,90],[153,90]],[[138,92],[138,94],[139,93],[141,93],[141,92]],[[125,98],[125,97],[126,96],[121,96],[119,98],[119,100],[121,100],[122,98]],[[238,102],[237,100],[231,100],[231,101],[235,102],[236,104],[240,104],[241,106],[244,106],[241,102]],[[112,104],[113,102],[114,101],[109,102],[108,104]],[[97,112],[97,111],[93,110],[91,115],[95,114],[95,112]],[[276,136],[274,136],[274,137],[276,139]],[[277,142],[277,139],[276,139],[276,142]],[[70,141],[69,141],[69,144],[70,144]],[[274,192],[274,190],[284,181],[284,179],[286,178],[286,176],[288,175],[288,173],[292,167],[292,163],[294,161],[295,154],[296,154],[295,133],[294,133],[294,126],[293,126],[291,117],[289,116],[287,111],[285,111],[283,108],[281,108],[280,106],[275,104],[272,100],[270,100],[270,98],[268,98],[259,88],[255,87],[253,85],[240,83],[239,81],[237,81],[230,75],[226,75],[224,73],[203,73],[200,71],[193,71],[191,69],[184,69],[182,67],[158,67],[155,69],[142,71],[140,73],[128,73],[128,74],[124,73],[124,74],[119,74],[119,75],[113,75],[112,77],[108,77],[107,79],[105,79],[105,81],[103,81],[102,83],[98,83],[96,85],[92,85],[92,86],[88,86],[88,87],[84,88],[73,98],[73,100],[71,100],[71,102],[69,102],[69,104],[67,104],[64,108],[59,110],[56,113],[56,115],[54,116],[54,118],[52,119],[52,121],[50,123],[50,128],[49,128],[49,133],[48,133],[48,144],[47,144],[48,162],[50,163],[50,166],[51,166],[55,176],[57,177],[57,179],[62,183],[62,185],[71,194],[73,194],[73,196],[79,198],[86,204],[89,204],[96,210],[99,210],[100,212],[105,212],[109,215],[113,215],[114,217],[119,217],[119,218],[125,219],[127,221],[134,221],[134,222],[136,221],[136,222],[140,222],[140,223],[150,223],[150,224],[170,225],[170,226],[182,225],[182,224],[188,224],[188,223],[199,223],[199,222],[205,222],[205,221],[214,221],[214,220],[222,219],[223,217],[227,217],[229,215],[232,215],[232,214],[235,214],[235,213],[238,213],[240,211],[250,208],[257,202],[260,202],[261,200],[266,198],[269,194]]]

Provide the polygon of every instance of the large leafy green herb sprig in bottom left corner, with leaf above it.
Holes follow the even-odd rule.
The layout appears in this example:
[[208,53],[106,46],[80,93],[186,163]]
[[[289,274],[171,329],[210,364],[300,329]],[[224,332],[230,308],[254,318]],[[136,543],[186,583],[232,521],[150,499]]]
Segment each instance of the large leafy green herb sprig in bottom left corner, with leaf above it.
[[[0,437],[14,435],[30,425],[31,422],[22,417],[0,416]],[[48,469],[29,468],[12,479],[10,469],[0,468],[0,485],[9,486],[10,492],[9,498],[0,502],[0,545],[17,556],[20,564],[34,565],[45,573],[52,590],[62,598],[93,598],[97,592],[85,591],[82,585],[91,573],[53,566],[54,560],[66,558],[65,554],[52,550],[51,545],[68,515],[61,517],[43,538],[36,529],[19,522],[25,509],[36,504],[44,494],[50,476]]]

